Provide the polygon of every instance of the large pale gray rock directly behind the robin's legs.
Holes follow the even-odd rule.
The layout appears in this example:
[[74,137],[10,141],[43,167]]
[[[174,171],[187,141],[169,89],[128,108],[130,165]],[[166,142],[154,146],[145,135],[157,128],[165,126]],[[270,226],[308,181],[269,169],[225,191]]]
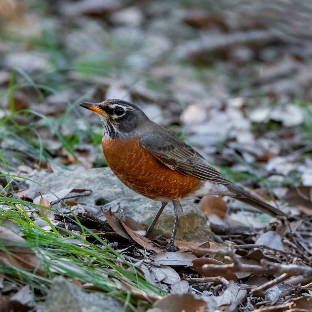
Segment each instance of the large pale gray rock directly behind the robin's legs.
[[[47,175],[41,185],[51,192],[71,187],[90,189],[92,193],[89,197],[77,197],[72,200],[98,209],[107,203],[111,203],[112,206],[118,203],[120,211],[144,226],[152,222],[161,205],[160,202],[143,197],[127,188],[115,177],[110,168],[93,168],[79,172],[59,171]],[[45,188],[39,187],[38,192],[46,194]],[[210,231],[206,217],[199,210],[198,204],[194,203],[193,199],[181,203],[183,216],[180,219],[176,239],[199,242],[207,241],[208,237],[212,239],[215,235]],[[173,205],[169,203],[156,223],[154,234],[163,234],[170,238],[174,220]]]

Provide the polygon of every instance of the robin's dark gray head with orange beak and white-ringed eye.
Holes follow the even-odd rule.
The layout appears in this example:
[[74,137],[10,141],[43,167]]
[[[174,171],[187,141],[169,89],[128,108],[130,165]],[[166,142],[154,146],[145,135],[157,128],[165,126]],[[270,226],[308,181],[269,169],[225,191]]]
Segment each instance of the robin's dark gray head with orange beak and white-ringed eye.
[[81,103],[80,106],[93,110],[100,116],[106,137],[131,137],[144,126],[149,118],[138,106],[117,99],[101,103]]

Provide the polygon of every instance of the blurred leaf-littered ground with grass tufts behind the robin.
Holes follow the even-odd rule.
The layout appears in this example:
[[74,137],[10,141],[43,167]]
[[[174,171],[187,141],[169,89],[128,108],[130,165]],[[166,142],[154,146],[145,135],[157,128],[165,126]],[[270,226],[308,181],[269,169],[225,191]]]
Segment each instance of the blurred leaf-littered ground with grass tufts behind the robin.
[[117,98],[232,180],[310,205],[310,0],[0,0],[0,14],[2,171],[106,166],[78,104]]

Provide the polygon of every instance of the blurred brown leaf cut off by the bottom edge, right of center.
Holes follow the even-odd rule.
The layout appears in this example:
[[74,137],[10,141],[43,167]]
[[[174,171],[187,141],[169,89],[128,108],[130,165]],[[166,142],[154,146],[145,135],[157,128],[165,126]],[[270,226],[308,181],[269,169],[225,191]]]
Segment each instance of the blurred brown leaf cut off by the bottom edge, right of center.
[[183,295],[170,295],[163,299],[157,300],[153,304],[153,309],[159,309],[160,312],[197,312],[206,307],[206,302],[201,299],[195,299],[193,295],[183,294]]

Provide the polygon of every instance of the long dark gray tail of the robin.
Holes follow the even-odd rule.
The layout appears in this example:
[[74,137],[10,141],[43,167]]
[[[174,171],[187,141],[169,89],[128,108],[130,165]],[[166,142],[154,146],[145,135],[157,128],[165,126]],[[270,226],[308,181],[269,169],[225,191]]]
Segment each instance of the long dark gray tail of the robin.
[[280,211],[279,209],[269,205],[268,203],[264,202],[261,199],[258,199],[254,196],[252,196],[250,193],[247,193],[244,189],[235,186],[235,185],[227,185],[227,188],[235,193],[236,195],[233,195],[231,197],[247,204],[250,205],[252,207],[255,207],[257,209],[259,209],[260,211],[263,211],[265,213],[267,213],[268,215],[272,216],[272,217],[276,217],[276,216],[284,216],[287,217],[286,213]]

